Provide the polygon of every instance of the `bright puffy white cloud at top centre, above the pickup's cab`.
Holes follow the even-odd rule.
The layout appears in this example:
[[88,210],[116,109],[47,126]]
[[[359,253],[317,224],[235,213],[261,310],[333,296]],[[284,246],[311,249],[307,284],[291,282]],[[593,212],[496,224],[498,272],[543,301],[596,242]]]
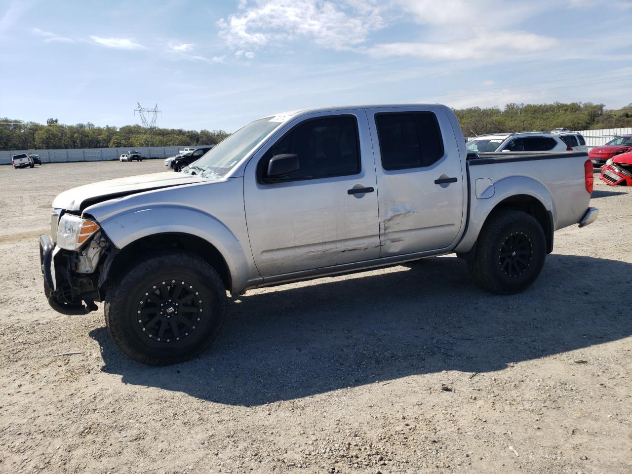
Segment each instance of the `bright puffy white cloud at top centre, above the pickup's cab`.
[[229,47],[258,49],[278,47],[304,37],[322,47],[351,49],[362,44],[368,33],[382,28],[382,8],[373,0],[255,0],[240,2],[237,14],[217,22],[220,36]]

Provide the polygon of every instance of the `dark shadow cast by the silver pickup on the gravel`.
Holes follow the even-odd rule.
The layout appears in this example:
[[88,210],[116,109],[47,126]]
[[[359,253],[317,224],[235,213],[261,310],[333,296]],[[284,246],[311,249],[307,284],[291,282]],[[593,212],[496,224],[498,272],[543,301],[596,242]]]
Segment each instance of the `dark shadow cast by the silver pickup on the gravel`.
[[[616,294],[593,283],[606,274]],[[631,264],[549,255],[525,293],[490,295],[465,262],[434,257],[374,276],[250,293],[229,305],[209,351],[171,367],[128,360],[105,328],[90,335],[102,348],[102,370],[123,383],[253,406],[441,370],[466,372],[450,375],[458,386],[473,372],[515,370],[507,365],[621,339],[632,334],[632,319],[616,295],[630,290]],[[580,358],[568,355],[569,370]]]

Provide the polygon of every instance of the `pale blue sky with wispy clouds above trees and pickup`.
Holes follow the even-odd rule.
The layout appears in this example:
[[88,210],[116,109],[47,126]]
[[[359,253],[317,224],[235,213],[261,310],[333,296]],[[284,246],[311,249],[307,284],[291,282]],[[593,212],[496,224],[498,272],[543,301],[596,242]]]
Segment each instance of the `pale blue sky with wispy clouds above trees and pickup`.
[[632,102],[632,1],[0,0],[0,117],[234,131],[336,104]]

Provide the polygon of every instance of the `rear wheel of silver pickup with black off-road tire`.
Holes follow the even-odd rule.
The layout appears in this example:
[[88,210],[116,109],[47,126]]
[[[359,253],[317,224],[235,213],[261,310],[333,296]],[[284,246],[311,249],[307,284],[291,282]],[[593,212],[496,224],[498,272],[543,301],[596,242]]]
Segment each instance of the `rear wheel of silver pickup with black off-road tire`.
[[[520,239],[524,243],[522,248],[528,249],[523,250],[522,271],[518,267],[514,270],[511,265],[507,270],[507,242],[512,239]],[[544,230],[535,217],[521,210],[499,210],[483,225],[474,258],[468,260],[468,269],[483,288],[492,293],[512,295],[524,291],[537,279],[545,256]]]

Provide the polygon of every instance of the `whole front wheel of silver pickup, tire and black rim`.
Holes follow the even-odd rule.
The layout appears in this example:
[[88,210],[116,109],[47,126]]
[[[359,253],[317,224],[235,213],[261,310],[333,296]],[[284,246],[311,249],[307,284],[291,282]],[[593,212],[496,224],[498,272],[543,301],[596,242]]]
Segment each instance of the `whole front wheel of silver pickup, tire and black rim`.
[[197,255],[168,252],[146,257],[108,291],[106,325],[131,359],[169,365],[202,353],[226,316],[226,289],[216,270]]

